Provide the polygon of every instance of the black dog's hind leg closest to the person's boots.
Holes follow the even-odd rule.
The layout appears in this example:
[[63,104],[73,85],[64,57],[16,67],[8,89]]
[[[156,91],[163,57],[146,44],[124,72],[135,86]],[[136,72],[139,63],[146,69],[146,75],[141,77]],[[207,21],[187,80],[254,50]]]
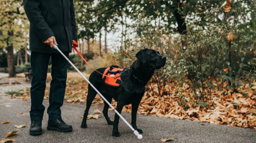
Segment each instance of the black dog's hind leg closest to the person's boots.
[[86,99],[86,109],[85,109],[85,112],[84,112],[84,118],[83,118],[82,123],[81,123],[81,128],[86,128],[87,127],[86,119],[87,119],[88,112],[89,112],[89,109],[91,107],[92,101],[94,100],[96,94],[97,94],[97,92],[91,86],[88,86],[88,95],[87,95],[87,99]]

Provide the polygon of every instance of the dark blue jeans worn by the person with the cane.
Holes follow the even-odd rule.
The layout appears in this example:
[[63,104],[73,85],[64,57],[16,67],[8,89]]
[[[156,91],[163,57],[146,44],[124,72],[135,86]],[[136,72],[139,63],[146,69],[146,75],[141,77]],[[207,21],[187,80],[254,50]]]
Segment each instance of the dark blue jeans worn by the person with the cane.
[[[69,57],[69,53],[64,53]],[[33,72],[31,81],[31,120],[41,120],[44,114],[44,90],[49,59],[52,59],[52,81],[50,82],[49,107],[47,113],[49,119],[61,119],[60,107],[63,105],[68,61],[60,53],[31,52],[31,68]]]

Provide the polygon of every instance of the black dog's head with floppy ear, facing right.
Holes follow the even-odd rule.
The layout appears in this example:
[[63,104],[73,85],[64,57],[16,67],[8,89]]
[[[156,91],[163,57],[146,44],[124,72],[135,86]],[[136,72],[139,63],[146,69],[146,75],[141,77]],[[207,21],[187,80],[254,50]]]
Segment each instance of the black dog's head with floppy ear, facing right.
[[137,59],[151,69],[159,69],[165,66],[166,57],[161,56],[153,49],[143,49],[136,54]]

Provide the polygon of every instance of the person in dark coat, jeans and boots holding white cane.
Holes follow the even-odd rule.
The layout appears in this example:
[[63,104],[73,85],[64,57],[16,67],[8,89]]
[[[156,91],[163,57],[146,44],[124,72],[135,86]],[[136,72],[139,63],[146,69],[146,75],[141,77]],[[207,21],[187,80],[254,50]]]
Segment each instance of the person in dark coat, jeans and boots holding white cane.
[[54,44],[68,57],[72,41],[77,41],[73,0],[23,0],[24,9],[30,21],[31,51],[31,135],[42,134],[44,114],[44,90],[49,59],[52,60],[49,93],[49,116],[47,130],[59,132],[72,131],[61,116],[63,105],[68,61],[54,49]]

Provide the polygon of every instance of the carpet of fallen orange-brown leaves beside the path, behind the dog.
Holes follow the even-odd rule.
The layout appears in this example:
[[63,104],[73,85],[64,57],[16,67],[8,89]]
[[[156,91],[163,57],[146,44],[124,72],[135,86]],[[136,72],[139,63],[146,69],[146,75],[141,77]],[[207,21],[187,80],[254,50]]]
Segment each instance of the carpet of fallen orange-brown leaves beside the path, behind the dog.
[[[166,85],[164,88],[169,91],[166,95],[159,95],[157,84],[151,83],[146,86],[138,114],[256,129],[256,83],[253,85],[250,87],[249,84],[244,84],[238,89],[239,93],[229,91],[224,94],[215,89],[207,101],[195,101],[192,89],[185,83],[182,86],[175,82]],[[65,100],[70,103],[86,103],[87,87],[87,82],[78,73],[68,73]],[[154,90],[149,90],[149,87]],[[183,100],[186,100],[187,106],[180,104],[181,94],[184,95]],[[48,95],[49,88],[46,89],[45,99],[48,99]],[[99,95],[93,104],[103,104]],[[116,104],[113,100],[112,105]],[[131,109],[131,105],[126,105],[123,111],[131,112]]]

